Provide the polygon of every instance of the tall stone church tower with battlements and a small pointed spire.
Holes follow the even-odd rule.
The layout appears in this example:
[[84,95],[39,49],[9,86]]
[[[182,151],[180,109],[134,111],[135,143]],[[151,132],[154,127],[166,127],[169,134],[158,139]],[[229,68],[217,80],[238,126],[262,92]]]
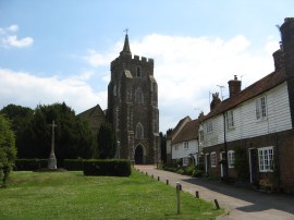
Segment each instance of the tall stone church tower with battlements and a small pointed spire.
[[120,142],[117,158],[158,163],[160,158],[158,87],[154,60],[132,58],[128,36],[111,62],[107,119]]

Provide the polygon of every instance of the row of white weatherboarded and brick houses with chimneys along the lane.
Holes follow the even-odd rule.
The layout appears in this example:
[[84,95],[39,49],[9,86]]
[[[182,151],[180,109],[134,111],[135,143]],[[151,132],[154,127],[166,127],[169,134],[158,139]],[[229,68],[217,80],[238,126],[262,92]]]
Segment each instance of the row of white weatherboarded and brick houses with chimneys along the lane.
[[168,161],[200,163],[225,180],[245,172],[242,162],[253,185],[294,193],[294,19],[280,32],[274,72],[243,90],[234,76],[228,99],[213,94],[209,113],[182,119],[168,136]]

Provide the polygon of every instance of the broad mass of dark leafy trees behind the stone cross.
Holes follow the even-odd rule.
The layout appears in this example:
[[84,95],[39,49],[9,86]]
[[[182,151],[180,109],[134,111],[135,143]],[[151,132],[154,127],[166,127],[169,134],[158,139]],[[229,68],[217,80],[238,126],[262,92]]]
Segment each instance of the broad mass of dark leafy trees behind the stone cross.
[[[9,105],[1,110],[10,117],[15,134],[19,158],[48,158],[51,126],[56,124],[56,155],[58,160],[91,158],[94,135],[86,122],[63,103],[37,106],[35,110]],[[20,120],[23,118],[23,121]]]

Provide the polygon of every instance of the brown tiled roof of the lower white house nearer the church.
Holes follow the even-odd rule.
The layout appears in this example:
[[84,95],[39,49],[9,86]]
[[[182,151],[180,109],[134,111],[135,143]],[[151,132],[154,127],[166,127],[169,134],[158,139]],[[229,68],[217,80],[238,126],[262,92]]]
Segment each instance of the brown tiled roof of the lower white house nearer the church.
[[199,120],[195,119],[185,124],[172,144],[177,144],[186,140],[198,138]]

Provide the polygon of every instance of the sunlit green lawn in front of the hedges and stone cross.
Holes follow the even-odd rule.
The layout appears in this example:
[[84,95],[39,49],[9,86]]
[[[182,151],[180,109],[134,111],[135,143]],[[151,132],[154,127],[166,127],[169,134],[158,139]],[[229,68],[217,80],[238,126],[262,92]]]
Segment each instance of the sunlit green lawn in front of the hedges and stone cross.
[[0,219],[216,219],[222,209],[133,171],[130,178],[82,172],[13,172],[0,188]]

